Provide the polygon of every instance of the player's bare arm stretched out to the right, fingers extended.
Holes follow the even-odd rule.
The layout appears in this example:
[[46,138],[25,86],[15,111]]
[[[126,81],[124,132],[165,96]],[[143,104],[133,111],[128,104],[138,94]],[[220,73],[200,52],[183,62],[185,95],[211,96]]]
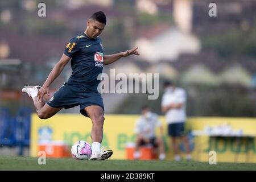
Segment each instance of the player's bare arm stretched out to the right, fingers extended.
[[130,49],[127,50],[125,52],[119,52],[119,53],[115,53],[114,55],[104,55],[104,65],[108,65],[108,64],[112,64],[115,61],[117,61],[118,59],[120,59],[121,57],[127,57],[130,55],[139,55],[139,52],[137,51],[137,48],[134,49]]

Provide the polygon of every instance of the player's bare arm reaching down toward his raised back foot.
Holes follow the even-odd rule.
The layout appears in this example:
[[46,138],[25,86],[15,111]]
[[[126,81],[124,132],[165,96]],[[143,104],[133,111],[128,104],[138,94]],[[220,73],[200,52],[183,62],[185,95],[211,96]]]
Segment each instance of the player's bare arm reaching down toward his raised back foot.
[[44,85],[39,90],[38,100],[42,99],[44,94],[49,94],[49,85],[51,85],[51,83],[60,75],[69,60],[71,60],[71,57],[68,57],[64,54],[61,56],[59,62],[52,69],[51,73],[49,73],[46,82],[44,82]]

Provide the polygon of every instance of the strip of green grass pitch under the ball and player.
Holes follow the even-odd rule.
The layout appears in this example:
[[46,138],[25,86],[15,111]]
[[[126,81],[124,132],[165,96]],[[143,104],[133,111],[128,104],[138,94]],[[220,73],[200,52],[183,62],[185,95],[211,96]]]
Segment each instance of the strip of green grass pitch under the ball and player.
[[170,171],[170,170],[256,170],[252,163],[172,162],[158,160],[104,160],[46,159],[39,165],[38,158],[0,156],[0,170],[90,170],[90,171]]

